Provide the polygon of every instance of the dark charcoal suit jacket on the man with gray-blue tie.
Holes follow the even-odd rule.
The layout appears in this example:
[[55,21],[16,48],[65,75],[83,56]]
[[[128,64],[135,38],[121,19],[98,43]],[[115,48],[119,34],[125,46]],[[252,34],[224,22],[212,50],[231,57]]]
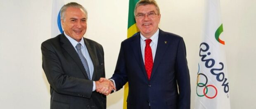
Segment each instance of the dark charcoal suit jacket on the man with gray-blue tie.
[[[94,72],[92,81],[105,77],[102,45],[84,38]],[[50,109],[106,109],[106,96],[92,92],[93,83],[72,44],[60,34],[41,45],[43,70],[50,83]]]

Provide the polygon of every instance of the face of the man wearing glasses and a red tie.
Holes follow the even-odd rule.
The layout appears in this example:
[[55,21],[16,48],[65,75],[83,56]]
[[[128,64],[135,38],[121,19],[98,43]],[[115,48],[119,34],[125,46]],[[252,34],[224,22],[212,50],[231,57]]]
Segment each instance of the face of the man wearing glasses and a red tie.
[[[135,12],[135,20],[140,33],[146,38],[150,38],[158,29],[161,15],[154,5],[140,5]],[[152,15],[152,13],[155,13],[155,15]],[[145,16],[136,17],[138,14],[145,14]]]

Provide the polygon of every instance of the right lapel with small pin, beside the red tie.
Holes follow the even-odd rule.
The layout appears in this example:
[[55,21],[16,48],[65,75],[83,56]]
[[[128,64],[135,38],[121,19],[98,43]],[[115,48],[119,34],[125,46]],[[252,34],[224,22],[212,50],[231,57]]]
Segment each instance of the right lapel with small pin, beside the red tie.
[[159,37],[156,47],[156,55],[154,59],[153,69],[151,73],[151,79],[154,77],[154,73],[156,73],[156,69],[161,62],[161,59],[164,57],[164,53],[170,44],[170,40],[167,40],[166,36],[164,35],[164,31],[159,29]]

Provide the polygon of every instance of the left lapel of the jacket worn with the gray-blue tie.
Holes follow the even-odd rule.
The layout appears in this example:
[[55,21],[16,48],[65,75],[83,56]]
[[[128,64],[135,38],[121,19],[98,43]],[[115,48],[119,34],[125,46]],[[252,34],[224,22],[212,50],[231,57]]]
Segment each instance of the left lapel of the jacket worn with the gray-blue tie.
[[81,71],[83,72],[83,75],[88,78],[87,73],[85,71],[85,68],[83,67],[83,64],[81,62],[80,57],[78,56],[75,48],[73,47],[73,45],[69,42],[69,39],[66,38],[66,36],[64,35],[64,33],[62,33],[61,37],[60,37],[60,42],[63,43],[62,47],[64,50],[66,50],[66,52],[69,53],[70,57],[73,58],[74,62],[76,62],[77,66],[81,69]]

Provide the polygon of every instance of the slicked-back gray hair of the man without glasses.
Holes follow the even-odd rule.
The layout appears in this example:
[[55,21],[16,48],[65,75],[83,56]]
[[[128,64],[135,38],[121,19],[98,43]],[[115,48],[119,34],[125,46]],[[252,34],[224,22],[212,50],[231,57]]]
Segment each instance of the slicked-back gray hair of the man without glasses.
[[75,7],[75,8],[83,9],[83,11],[85,12],[85,15],[86,15],[85,19],[87,21],[87,11],[86,11],[86,9],[82,5],[80,5],[80,4],[76,3],[76,2],[70,2],[70,3],[62,6],[62,8],[60,9],[60,17],[61,17],[62,20],[65,20],[65,12],[66,12],[66,9],[68,7]]

